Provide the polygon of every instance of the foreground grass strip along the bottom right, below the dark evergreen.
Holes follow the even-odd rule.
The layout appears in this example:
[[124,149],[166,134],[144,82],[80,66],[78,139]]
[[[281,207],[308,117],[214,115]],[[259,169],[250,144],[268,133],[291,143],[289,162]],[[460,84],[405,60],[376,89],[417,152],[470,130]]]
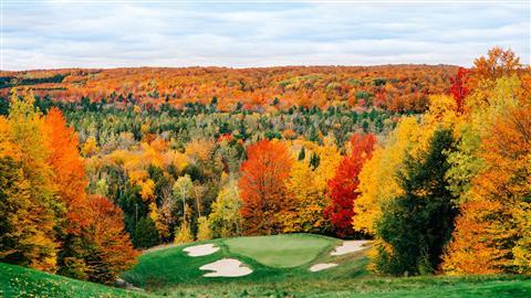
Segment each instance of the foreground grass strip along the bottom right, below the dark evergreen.
[[183,285],[158,294],[170,297],[360,297],[360,298],[529,298],[525,276],[294,279],[283,283]]

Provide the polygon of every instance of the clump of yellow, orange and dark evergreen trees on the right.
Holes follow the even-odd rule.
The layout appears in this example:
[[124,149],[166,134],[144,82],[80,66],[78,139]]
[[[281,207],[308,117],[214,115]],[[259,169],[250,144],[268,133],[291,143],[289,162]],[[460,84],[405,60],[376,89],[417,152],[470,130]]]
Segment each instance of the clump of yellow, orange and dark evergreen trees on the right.
[[[528,274],[529,66],[494,47],[450,83],[451,97],[431,96],[421,117],[403,118],[362,169],[354,227],[376,237],[371,266],[379,274]],[[429,149],[427,140],[440,129],[455,140],[451,150]],[[423,153],[428,149],[430,155]],[[410,168],[408,160],[418,163]],[[445,166],[431,167],[433,161]],[[410,177],[418,184],[409,183],[404,169],[416,173]],[[428,182],[438,171],[437,182]],[[417,209],[426,202],[412,198],[431,198],[426,202],[433,206]],[[451,212],[431,212],[437,204]],[[442,222],[444,228],[434,228]],[[426,249],[407,248],[412,242]]]

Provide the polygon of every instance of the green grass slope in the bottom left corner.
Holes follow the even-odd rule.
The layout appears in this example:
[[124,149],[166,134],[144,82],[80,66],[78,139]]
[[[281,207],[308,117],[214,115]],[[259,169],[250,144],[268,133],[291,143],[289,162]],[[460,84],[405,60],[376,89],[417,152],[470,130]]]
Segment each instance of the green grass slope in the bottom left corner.
[[76,280],[0,263],[0,297],[147,297],[98,284]]

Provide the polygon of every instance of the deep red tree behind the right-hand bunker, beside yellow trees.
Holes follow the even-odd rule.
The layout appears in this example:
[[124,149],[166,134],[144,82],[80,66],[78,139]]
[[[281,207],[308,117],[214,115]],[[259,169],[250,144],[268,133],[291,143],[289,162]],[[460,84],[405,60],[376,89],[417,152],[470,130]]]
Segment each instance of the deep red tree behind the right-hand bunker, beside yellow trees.
[[343,160],[329,181],[327,193],[332,199],[324,210],[324,216],[332,223],[333,231],[340,237],[354,234],[352,217],[354,216],[353,203],[360,195],[357,175],[366,160],[371,159],[376,138],[373,135],[355,134],[351,138],[351,153]]

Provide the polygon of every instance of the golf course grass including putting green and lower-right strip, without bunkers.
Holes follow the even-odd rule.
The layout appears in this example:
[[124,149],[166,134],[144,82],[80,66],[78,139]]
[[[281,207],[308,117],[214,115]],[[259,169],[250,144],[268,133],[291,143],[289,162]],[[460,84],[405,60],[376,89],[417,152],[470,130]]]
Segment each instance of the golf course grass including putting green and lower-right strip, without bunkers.
[[[366,270],[366,252],[331,256],[341,243],[331,237],[294,234],[207,243],[220,251],[201,257],[184,253],[189,245],[150,251],[123,277],[150,294],[170,297],[531,297],[531,279],[524,276],[374,277]],[[202,277],[198,268],[222,257],[238,258],[253,273]],[[340,266],[309,272],[316,263]]]

